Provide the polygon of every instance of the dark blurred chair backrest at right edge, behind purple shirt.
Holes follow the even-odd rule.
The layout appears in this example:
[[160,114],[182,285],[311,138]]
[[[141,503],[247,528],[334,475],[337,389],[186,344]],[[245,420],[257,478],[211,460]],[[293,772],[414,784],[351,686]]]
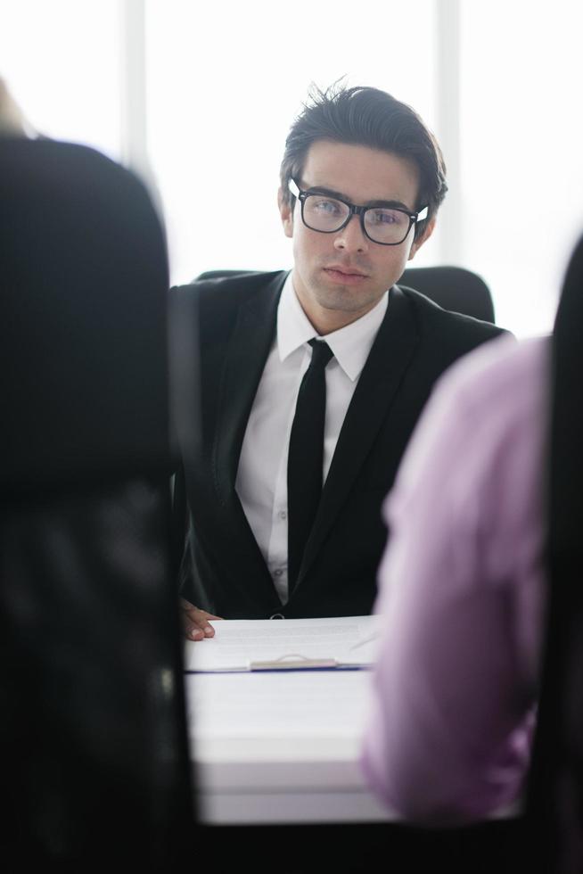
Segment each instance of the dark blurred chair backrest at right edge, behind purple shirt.
[[[530,786],[529,870],[583,870],[583,237],[553,337],[548,610]],[[525,869],[526,870],[526,869]]]

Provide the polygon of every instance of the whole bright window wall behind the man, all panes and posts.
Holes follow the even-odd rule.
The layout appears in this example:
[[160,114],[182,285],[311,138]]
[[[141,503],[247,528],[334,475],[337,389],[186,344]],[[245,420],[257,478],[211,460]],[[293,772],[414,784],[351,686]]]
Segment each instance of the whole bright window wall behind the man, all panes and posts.
[[[583,227],[582,31],[570,0],[0,0],[0,75],[42,132],[154,180],[173,282],[291,266],[276,191],[292,118],[311,83],[384,88],[448,164],[415,266],[480,273],[497,322],[527,336],[551,329]],[[242,179],[254,199],[226,239],[224,198]]]

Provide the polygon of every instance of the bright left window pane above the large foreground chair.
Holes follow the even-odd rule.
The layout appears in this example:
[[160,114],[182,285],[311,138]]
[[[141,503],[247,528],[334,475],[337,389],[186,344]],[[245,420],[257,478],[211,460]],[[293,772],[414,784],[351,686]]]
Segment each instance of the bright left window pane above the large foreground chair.
[[0,76],[38,131],[119,160],[118,0],[0,0]]

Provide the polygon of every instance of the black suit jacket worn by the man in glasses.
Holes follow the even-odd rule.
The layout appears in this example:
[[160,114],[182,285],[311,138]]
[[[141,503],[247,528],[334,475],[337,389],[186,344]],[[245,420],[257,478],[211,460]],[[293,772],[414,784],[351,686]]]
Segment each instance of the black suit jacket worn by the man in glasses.
[[234,482],[286,276],[255,273],[171,292],[190,301],[200,324],[200,439],[183,453],[189,518],[182,591],[193,604],[231,619],[368,614],[387,537],[382,501],[431,387],[453,361],[503,332],[440,309],[411,289],[390,289],[298,581],[282,606]]

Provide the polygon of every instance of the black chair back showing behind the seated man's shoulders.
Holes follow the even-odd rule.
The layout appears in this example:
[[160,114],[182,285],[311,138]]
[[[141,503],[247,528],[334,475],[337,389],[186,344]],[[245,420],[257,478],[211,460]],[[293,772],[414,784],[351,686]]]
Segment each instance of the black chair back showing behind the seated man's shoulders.
[[[250,270],[207,270],[197,279],[236,276]],[[466,316],[494,324],[494,302],[488,285],[477,273],[460,267],[409,268],[398,281],[421,292],[443,309],[452,309]]]

